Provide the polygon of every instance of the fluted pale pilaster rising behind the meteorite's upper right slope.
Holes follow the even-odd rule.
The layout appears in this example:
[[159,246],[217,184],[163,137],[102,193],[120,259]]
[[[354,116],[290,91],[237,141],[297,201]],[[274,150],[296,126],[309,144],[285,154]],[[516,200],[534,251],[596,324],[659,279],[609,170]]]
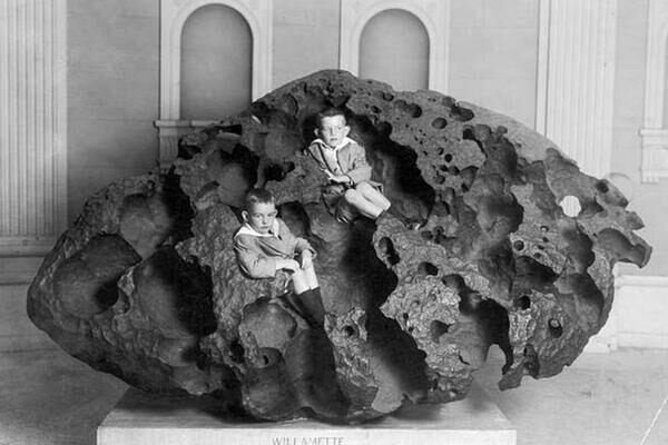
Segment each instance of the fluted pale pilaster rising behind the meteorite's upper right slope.
[[541,0],[536,129],[610,172],[617,0]]

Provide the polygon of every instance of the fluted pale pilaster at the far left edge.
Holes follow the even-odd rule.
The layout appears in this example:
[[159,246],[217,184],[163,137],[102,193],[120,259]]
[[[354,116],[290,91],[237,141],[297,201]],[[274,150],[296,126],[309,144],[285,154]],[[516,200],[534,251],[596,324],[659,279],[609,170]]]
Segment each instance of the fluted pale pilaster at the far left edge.
[[45,253],[67,224],[66,17],[0,2],[0,255]]

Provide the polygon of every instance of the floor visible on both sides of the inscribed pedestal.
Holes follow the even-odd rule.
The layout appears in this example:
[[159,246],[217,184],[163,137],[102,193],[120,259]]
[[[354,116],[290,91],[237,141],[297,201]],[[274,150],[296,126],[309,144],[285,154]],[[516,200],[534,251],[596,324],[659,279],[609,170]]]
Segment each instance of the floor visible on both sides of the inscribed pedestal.
[[[500,393],[500,357],[481,386],[518,429],[518,444],[666,445],[668,350],[586,354],[550,379]],[[92,445],[95,428],[127,386],[59,349],[0,355],[0,445]]]

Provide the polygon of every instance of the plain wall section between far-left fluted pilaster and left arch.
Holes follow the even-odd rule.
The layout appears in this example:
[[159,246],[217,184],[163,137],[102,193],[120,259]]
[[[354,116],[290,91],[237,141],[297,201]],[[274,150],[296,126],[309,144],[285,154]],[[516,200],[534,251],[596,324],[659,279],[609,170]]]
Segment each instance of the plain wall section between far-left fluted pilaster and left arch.
[[91,191],[157,158],[159,0],[70,0],[69,219]]

